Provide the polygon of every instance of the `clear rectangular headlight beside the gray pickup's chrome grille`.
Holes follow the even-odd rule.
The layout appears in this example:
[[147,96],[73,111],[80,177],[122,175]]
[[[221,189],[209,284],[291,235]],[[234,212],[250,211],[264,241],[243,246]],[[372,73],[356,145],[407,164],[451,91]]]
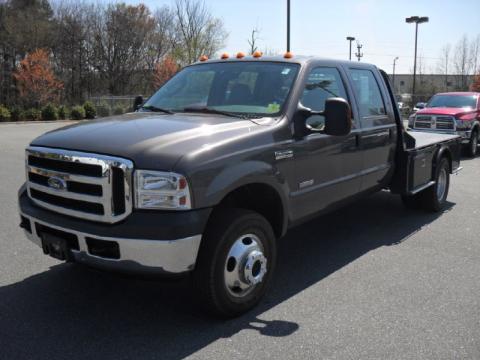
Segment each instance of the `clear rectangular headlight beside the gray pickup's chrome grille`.
[[190,189],[185,176],[162,171],[135,171],[137,209],[187,210],[191,208]]

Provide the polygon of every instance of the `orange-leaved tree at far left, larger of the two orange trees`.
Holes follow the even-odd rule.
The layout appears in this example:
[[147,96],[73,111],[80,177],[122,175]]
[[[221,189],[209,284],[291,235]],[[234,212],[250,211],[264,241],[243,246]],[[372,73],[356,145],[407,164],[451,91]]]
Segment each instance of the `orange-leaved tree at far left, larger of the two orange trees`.
[[13,73],[25,104],[42,106],[58,100],[63,83],[55,77],[49,52],[36,49],[27,54]]

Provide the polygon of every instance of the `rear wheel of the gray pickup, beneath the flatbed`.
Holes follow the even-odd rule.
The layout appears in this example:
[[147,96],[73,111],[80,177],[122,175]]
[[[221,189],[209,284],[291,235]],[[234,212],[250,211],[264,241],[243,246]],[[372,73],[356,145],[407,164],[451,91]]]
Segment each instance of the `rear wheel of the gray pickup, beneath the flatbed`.
[[425,210],[439,212],[445,206],[450,187],[450,165],[443,157],[435,169],[435,184],[423,190],[419,195]]

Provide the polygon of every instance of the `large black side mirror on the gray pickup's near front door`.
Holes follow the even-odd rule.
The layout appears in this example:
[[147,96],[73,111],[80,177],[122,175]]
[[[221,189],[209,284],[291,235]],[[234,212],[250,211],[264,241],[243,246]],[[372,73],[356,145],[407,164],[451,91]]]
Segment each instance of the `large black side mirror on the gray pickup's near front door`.
[[[324,134],[332,136],[345,136],[352,130],[352,117],[350,105],[343,98],[329,98],[325,101],[324,111],[313,111],[302,104],[298,105],[298,115],[301,117],[303,130],[298,129],[299,133],[305,131],[321,131]],[[325,117],[325,126],[321,130],[307,129],[305,121],[315,115]]]

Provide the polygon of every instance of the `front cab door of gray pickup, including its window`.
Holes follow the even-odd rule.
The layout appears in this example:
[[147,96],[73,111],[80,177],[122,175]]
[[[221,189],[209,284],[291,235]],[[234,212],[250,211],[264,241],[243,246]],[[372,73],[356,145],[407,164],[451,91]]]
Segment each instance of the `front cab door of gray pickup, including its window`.
[[[323,111],[331,97],[349,100],[344,78],[334,66],[313,67],[304,80],[300,103],[315,111]],[[323,133],[323,116],[307,121],[312,131],[294,144],[296,189],[291,193],[295,217],[301,218],[324,210],[360,191],[362,154],[359,149],[360,129],[356,121],[347,136]]]

